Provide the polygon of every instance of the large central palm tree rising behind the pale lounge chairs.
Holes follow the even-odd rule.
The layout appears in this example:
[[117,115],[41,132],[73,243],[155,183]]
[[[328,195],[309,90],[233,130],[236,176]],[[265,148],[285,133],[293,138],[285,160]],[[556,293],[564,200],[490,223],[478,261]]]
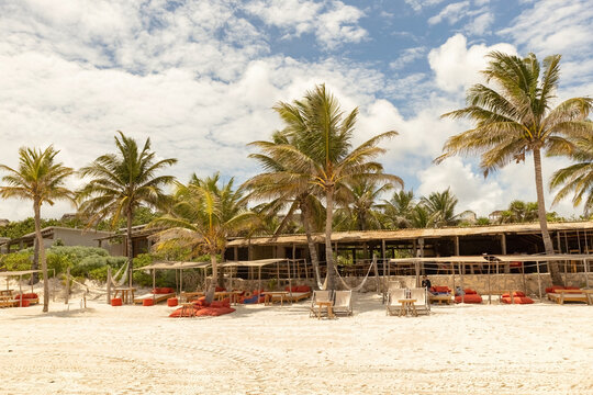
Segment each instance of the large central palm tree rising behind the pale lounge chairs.
[[299,173],[309,174],[307,182],[315,185],[325,199],[327,286],[335,289],[332,250],[335,193],[340,185],[356,179],[391,181],[403,185],[399,177],[383,173],[382,165],[373,160],[385,151],[378,147],[379,143],[398,133],[382,133],[351,149],[358,109],[344,114],[337,99],[326,91],[325,84],[307,91],[303,100],[295,100],[292,104],[279,102],[273,109],[286,124],[284,132],[293,137],[295,144],[275,145],[267,154],[281,163],[293,163]]

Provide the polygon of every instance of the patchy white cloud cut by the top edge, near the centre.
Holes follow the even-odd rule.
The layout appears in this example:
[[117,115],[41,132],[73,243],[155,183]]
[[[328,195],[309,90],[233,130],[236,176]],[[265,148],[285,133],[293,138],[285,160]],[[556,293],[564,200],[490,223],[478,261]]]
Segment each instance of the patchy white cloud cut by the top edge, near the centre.
[[279,27],[287,38],[311,33],[329,49],[344,43],[359,43],[368,34],[358,25],[365,13],[342,1],[257,0],[247,3],[245,9],[266,24]]

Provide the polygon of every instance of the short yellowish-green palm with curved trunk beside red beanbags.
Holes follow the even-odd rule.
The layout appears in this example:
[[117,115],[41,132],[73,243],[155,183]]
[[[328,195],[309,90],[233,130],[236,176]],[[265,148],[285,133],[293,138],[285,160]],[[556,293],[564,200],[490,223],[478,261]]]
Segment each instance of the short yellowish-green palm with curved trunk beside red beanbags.
[[210,255],[213,281],[208,290],[209,302],[214,297],[216,282],[220,281],[216,255],[224,257],[228,237],[246,229],[255,218],[255,214],[247,210],[243,191],[233,189],[233,179],[222,187],[219,183],[219,173],[205,179],[193,174],[187,185],[177,183],[170,213],[152,223],[176,230],[176,236],[169,241],[191,248],[195,256]]

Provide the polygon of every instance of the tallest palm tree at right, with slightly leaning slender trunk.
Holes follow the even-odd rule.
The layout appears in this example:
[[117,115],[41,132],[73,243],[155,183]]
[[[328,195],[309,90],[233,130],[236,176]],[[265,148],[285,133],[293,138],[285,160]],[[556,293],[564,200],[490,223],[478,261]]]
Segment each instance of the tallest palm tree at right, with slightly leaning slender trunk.
[[[546,253],[553,253],[553,246],[546,222],[544,182],[541,180],[541,151],[570,149],[571,138],[592,133],[586,121],[593,99],[573,98],[551,109],[560,77],[560,55],[544,59],[541,70],[534,54],[525,58],[500,52],[488,55],[490,63],[482,71],[495,88],[478,83],[467,93],[465,109],[444,114],[445,117],[469,119],[475,127],[449,137],[444,146],[444,158],[457,154],[478,153],[484,176],[506,166],[512,160],[534,157],[538,217]],[[549,264],[555,284],[561,284],[558,264]]]

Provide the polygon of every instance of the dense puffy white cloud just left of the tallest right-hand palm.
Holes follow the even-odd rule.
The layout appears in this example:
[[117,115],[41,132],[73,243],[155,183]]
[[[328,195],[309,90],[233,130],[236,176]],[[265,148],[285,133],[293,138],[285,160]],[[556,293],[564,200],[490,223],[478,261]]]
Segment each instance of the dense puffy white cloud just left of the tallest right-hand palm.
[[450,37],[428,54],[428,63],[436,75],[437,86],[448,92],[459,92],[481,81],[479,71],[485,68],[488,60],[484,56],[492,50],[516,54],[515,47],[510,44],[478,44],[468,48],[463,35],[456,34]]

